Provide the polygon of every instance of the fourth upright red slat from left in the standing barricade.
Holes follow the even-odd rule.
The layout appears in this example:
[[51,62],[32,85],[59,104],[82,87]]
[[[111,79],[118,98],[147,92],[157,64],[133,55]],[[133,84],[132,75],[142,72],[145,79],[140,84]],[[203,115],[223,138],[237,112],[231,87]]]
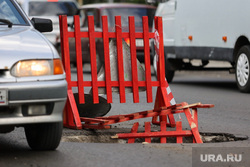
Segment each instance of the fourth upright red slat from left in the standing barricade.
[[108,19],[107,16],[102,16],[102,32],[103,32],[103,48],[105,62],[105,87],[107,94],[107,102],[112,103],[112,87],[111,87],[111,72],[109,58],[109,35],[108,35]]

